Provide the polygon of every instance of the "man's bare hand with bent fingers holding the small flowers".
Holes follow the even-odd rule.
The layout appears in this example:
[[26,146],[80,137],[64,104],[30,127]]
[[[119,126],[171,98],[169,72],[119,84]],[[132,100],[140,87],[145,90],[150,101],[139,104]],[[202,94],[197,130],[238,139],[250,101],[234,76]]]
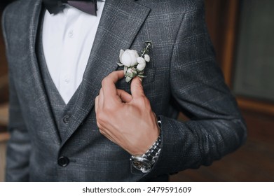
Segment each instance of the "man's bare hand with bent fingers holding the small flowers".
[[114,71],[102,80],[95,99],[95,112],[100,132],[131,155],[142,155],[156,141],[160,128],[151,110],[142,82],[135,77],[130,85],[132,94],[116,89],[123,71]]

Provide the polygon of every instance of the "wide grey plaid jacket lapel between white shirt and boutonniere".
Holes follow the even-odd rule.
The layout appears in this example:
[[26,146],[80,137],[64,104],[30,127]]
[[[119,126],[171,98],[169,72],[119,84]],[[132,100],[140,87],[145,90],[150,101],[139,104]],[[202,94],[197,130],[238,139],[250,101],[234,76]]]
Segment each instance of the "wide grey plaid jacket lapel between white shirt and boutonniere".
[[71,123],[64,137],[69,139],[93,109],[102,79],[117,69],[121,49],[130,48],[150,9],[133,0],[107,0],[85,69]]

